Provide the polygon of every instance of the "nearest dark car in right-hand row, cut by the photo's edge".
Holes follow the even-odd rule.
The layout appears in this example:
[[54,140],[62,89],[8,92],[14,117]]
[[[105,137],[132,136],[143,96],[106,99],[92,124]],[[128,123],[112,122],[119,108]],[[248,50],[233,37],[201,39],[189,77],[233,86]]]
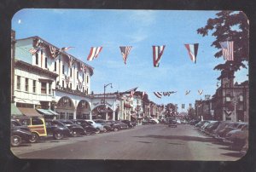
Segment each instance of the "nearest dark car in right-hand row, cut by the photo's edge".
[[227,133],[224,142],[229,142],[232,148],[241,150],[246,145],[248,139],[248,123],[241,123],[237,129]]

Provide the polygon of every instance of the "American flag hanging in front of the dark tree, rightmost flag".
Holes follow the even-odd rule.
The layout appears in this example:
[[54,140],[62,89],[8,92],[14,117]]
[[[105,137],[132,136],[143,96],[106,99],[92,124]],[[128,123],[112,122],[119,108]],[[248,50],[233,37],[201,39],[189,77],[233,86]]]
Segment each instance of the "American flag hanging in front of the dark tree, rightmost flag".
[[234,42],[226,41],[219,43],[222,48],[224,60],[234,60]]

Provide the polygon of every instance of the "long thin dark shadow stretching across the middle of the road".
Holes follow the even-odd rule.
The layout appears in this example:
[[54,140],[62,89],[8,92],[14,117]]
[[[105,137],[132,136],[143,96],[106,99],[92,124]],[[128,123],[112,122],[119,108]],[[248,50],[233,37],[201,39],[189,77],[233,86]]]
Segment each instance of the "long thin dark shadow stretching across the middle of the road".
[[212,142],[213,138],[202,138],[196,136],[186,135],[145,135],[145,136],[133,136],[138,138],[154,138],[154,139],[169,139],[169,140],[187,140],[187,141],[201,141],[201,142]]

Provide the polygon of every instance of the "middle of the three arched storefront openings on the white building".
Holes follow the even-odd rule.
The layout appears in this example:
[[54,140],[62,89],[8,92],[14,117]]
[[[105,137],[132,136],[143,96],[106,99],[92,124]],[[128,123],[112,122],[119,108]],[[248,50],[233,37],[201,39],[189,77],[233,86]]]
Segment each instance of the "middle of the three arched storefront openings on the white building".
[[86,100],[79,101],[77,119],[90,119],[90,104]]

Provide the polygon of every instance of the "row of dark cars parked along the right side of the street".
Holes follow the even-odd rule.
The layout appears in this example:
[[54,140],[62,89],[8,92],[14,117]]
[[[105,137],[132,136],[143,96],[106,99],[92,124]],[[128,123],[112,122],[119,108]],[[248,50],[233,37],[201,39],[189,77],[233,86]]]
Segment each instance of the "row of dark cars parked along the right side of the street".
[[[197,122],[197,123],[196,123]],[[232,149],[247,152],[248,123],[230,121],[190,121],[195,128],[207,135],[211,135],[218,141],[227,143]]]

